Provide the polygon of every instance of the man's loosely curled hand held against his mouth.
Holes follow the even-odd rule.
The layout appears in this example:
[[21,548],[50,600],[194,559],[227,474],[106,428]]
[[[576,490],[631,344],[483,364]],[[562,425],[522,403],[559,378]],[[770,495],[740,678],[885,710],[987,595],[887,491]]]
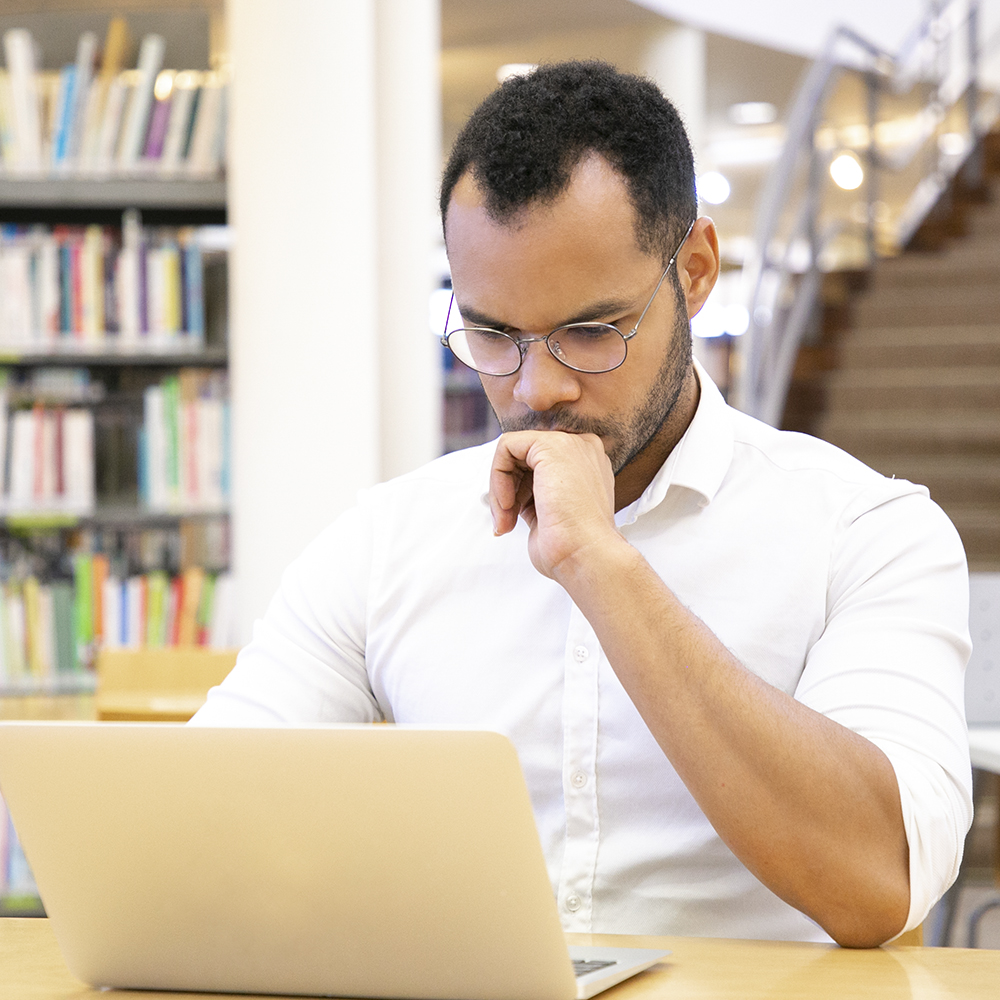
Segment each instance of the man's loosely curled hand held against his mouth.
[[623,542],[615,526],[615,478],[596,434],[515,431],[497,443],[490,470],[490,512],[497,535],[518,516],[531,529],[528,554],[543,576],[593,546]]

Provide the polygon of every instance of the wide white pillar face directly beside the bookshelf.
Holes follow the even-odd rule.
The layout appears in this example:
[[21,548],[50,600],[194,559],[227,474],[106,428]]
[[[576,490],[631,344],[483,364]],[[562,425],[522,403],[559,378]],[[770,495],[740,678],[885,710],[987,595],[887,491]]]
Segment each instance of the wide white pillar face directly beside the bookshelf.
[[229,0],[239,642],[379,471],[373,0]]

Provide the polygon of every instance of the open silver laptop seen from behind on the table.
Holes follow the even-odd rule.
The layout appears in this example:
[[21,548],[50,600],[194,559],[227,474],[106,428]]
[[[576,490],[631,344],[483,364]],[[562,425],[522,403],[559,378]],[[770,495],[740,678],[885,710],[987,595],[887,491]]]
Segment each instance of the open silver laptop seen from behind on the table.
[[93,986],[585,1000],[669,954],[567,948],[498,733],[3,722],[0,794]]

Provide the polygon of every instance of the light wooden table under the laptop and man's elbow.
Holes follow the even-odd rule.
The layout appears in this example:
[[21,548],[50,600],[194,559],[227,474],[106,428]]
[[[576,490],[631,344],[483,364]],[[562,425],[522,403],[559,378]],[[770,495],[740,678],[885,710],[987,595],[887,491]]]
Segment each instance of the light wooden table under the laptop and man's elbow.
[[[779,941],[587,934],[570,935],[570,940],[673,952],[648,972],[602,994],[608,1000],[995,1000],[1000,996],[1000,951],[894,947],[847,951],[834,945]],[[181,1000],[204,995],[100,994],[70,975],[47,920],[0,920],[0,1000],[97,1000],[99,996]]]

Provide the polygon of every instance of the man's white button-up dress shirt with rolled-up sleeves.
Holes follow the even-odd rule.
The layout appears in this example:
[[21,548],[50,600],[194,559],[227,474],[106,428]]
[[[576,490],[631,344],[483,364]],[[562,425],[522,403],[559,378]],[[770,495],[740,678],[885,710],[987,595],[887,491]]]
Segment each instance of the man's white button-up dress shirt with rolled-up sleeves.
[[[748,669],[885,752],[916,926],[972,814],[961,542],[924,487],[759,423],[699,378],[691,425],[618,526]],[[719,839],[586,618],[531,566],[526,526],[493,536],[493,451],[366,491],[287,570],[195,724],[499,730],[567,931],[829,940]]]

